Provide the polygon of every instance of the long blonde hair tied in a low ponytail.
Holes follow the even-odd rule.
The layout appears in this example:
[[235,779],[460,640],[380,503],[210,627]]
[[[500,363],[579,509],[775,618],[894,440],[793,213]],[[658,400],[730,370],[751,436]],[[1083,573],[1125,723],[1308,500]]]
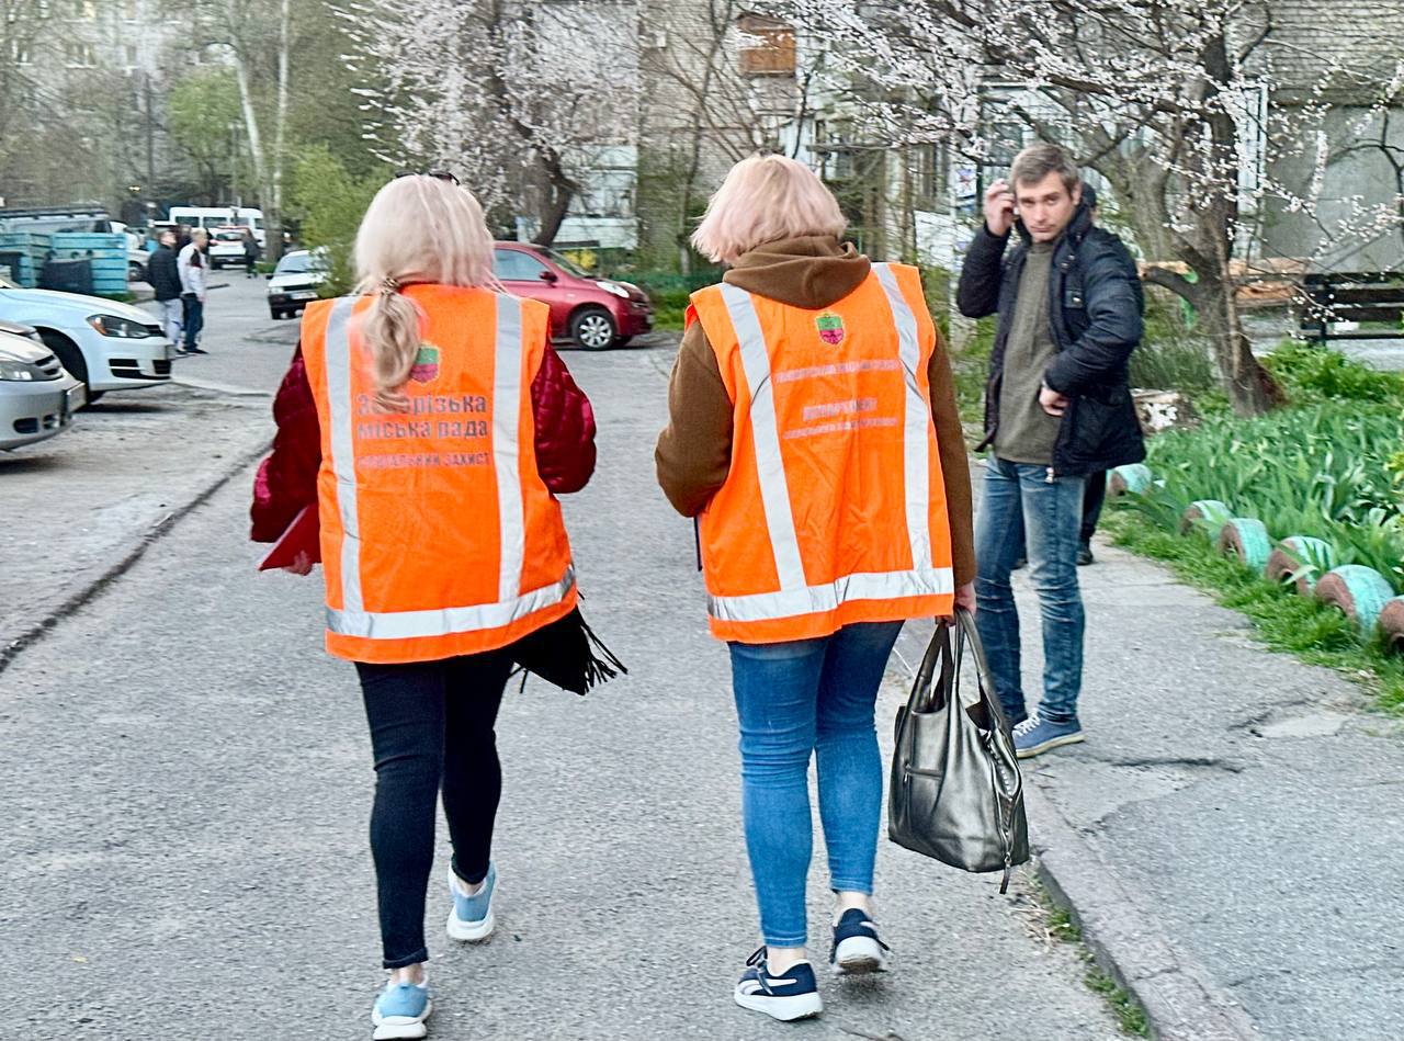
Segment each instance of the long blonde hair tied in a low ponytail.
[[375,194],[355,236],[357,292],[372,298],[359,333],[375,358],[375,403],[407,412],[404,385],[424,337],[425,315],[400,288],[411,282],[501,288],[493,236],[468,188],[421,174],[396,177]]

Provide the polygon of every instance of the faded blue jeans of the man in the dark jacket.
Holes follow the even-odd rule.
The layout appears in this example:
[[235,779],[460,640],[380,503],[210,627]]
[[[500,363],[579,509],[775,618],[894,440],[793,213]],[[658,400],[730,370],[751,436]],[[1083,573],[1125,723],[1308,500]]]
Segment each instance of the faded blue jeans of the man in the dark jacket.
[[991,455],[976,521],[976,625],[990,677],[1009,724],[1028,715],[1019,674],[1019,611],[1009,572],[1028,544],[1029,577],[1043,615],[1043,704],[1039,716],[1077,719],[1082,688],[1082,596],[1077,586],[1082,478],[1047,479],[1047,466]]

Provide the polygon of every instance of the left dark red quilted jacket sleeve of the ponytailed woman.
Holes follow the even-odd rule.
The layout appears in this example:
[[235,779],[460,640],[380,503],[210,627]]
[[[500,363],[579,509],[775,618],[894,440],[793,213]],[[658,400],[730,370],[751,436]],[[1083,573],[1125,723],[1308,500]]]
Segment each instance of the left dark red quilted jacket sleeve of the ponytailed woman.
[[292,355],[292,365],[282,378],[272,403],[278,433],[272,454],[258,464],[254,478],[254,542],[277,542],[302,507],[317,502],[317,468],[322,465],[322,427],[317,403],[312,398],[307,369],[302,364],[302,346]]

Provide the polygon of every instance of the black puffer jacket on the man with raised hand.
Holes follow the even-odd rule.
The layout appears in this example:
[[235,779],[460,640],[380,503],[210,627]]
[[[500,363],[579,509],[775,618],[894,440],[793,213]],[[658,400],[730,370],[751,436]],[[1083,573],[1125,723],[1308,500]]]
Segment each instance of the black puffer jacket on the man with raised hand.
[[[960,313],[1000,315],[986,385],[981,448],[994,441],[1000,421],[1004,347],[1031,244],[1024,225],[1015,228],[1021,242],[1005,257],[1009,236],[995,237],[981,226],[960,271],[956,299]],[[1053,471],[1059,476],[1082,476],[1146,458],[1126,371],[1141,339],[1144,309],[1136,261],[1120,239],[1092,223],[1084,192],[1082,205],[1053,250],[1049,278],[1049,323],[1057,357],[1043,382],[1071,400],[1053,448]]]

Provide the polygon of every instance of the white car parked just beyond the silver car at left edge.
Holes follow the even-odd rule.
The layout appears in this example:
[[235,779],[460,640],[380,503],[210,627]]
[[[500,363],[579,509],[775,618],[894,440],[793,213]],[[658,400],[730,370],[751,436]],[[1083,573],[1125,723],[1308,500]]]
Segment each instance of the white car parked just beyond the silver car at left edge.
[[176,347],[153,315],[76,292],[25,289],[0,278],[0,319],[34,326],[45,346],[97,400],[107,391],[171,378]]

